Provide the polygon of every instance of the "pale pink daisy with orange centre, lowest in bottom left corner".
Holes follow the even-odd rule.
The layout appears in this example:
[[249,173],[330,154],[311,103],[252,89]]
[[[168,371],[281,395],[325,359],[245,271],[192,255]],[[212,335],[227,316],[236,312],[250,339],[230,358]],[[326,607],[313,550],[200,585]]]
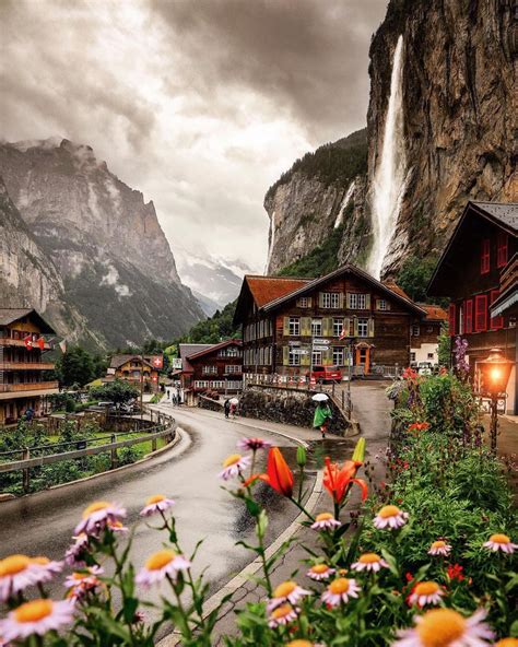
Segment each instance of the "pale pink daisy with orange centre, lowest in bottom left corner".
[[0,621],[0,633],[8,643],[24,640],[33,634],[43,636],[72,622],[73,605],[68,600],[38,599],[21,604]]

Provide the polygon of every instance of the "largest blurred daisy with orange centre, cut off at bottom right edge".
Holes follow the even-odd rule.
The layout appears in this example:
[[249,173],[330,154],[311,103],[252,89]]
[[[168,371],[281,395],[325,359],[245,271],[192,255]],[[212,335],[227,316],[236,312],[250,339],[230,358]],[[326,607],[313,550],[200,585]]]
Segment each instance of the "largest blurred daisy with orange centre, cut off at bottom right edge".
[[452,609],[432,609],[415,616],[413,628],[400,630],[392,647],[485,647],[494,637],[485,615],[484,610],[463,617]]

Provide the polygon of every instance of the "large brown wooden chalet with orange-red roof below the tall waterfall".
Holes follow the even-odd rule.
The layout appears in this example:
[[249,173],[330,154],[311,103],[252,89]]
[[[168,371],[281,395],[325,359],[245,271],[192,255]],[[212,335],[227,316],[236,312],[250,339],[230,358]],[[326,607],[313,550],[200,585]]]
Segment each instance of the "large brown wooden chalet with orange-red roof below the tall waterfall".
[[[348,264],[319,279],[247,275],[234,322],[244,374],[307,376],[311,366],[356,373],[410,364],[410,328],[426,317],[397,285]],[[342,338],[342,339],[341,339]]]

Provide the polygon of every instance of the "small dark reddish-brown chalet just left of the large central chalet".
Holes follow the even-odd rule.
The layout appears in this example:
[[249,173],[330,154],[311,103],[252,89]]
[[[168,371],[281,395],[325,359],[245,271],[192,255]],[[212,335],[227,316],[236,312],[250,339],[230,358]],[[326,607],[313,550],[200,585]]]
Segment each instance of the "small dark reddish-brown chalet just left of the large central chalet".
[[243,352],[239,339],[216,344],[179,344],[180,384],[187,404],[200,393],[232,395],[243,388]]

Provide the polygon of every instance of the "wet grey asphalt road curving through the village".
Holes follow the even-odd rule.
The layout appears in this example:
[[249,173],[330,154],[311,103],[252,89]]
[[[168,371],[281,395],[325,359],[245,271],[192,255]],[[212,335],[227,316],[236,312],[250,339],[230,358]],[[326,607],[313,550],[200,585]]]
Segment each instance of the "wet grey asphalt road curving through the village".
[[[170,412],[170,407],[167,411]],[[262,431],[255,434],[250,427],[228,423],[223,417],[208,420],[200,413],[184,408],[174,411],[187,434],[176,447],[153,461],[0,504],[0,558],[11,553],[62,558],[83,508],[92,501],[107,499],[123,505],[128,525],[133,526],[140,520],[144,499],[162,493],[176,501],[174,513],[184,551],[189,553],[198,540],[204,539],[196,561],[197,570],[208,567],[211,588],[217,588],[251,560],[250,553],[236,548],[235,542],[252,534],[244,506],[221,489],[217,473],[222,460],[236,451],[236,442],[243,436],[260,435],[286,447],[290,462],[294,460],[295,449],[293,443],[273,434]],[[267,485],[262,485],[261,495],[270,513],[269,533],[275,537],[297,511]],[[164,534],[140,522],[131,552],[136,566],[165,540]],[[59,581],[50,592],[61,597]]]

